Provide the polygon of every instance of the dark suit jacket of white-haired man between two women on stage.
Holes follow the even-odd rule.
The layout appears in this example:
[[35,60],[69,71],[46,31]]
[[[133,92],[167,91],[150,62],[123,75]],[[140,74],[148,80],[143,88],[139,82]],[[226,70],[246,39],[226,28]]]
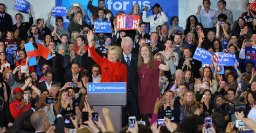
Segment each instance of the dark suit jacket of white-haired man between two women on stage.
[[138,101],[138,73],[137,73],[137,63],[138,55],[132,53],[132,59],[130,65],[124,59],[124,54],[122,53],[121,63],[125,64],[127,67],[127,88],[132,90],[134,98]]

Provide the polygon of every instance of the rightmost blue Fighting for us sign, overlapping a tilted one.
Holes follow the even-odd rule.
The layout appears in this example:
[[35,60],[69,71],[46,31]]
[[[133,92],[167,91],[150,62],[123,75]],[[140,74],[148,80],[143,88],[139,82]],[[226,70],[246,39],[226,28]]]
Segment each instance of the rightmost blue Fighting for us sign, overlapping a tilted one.
[[234,66],[235,65],[235,53],[221,53],[218,54],[219,66]]

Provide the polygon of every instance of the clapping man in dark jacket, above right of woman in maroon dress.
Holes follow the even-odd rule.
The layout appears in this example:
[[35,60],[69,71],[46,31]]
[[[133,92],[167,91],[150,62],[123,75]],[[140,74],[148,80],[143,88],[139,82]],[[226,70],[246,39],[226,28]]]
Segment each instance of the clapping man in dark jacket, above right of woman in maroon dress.
[[157,32],[152,32],[151,36],[150,36],[151,42],[147,43],[152,48],[153,55],[155,55],[159,51],[164,50],[164,46],[163,46],[162,43],[158,42],[158,38],[159,38],[158,33]]

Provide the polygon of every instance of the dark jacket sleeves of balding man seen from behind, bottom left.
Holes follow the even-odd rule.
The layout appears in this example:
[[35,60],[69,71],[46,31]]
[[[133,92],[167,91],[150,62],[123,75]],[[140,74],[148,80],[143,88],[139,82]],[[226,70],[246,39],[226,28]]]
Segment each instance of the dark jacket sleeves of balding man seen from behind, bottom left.
[[[21,124],[23,119],[26,116],[32,115],[34,113],[33,109],[29,109],[26,112],[22,113],[14,122],[13,122],[13,126],[11,127],[11,130],[15,133],[20,133],[21,132]],[[55,124],[55,133],[63,133],[64,132],[64,127],[65,127],[65,123],[64,123],[64,119],[63,117],[58,117],[57,118],[57,122]]]

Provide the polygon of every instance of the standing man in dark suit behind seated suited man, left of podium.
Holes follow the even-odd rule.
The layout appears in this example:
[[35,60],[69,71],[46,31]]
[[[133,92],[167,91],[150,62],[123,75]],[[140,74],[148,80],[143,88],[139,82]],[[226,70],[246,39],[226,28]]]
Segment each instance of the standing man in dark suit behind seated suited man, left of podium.
[[74,62],[79,64],[79,67],[82,66],[82,56],[77,55],[75,53],[75,45],[74,44],[69,44],[68,45],[68,51],[69,54],[64,56],[64,61],[63,61],[63,69],[65,69],[65,76],[71,75],[71,66]]

